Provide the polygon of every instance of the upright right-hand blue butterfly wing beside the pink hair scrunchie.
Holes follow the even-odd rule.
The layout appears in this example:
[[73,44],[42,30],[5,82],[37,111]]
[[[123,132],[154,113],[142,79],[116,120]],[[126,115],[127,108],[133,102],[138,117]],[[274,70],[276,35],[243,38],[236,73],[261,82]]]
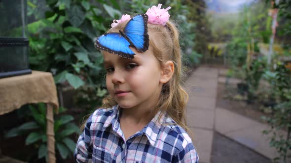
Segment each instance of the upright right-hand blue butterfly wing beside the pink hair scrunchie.
[[148,50],[147,20],[148,16],[146,14],[139,14],[133,17],[123,29],[127,40],[139,52]]

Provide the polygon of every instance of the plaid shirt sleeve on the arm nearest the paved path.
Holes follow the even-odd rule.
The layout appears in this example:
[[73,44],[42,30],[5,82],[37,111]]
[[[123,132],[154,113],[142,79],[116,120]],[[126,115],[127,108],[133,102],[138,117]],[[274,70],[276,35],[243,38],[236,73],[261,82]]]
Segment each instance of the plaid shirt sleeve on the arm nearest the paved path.
[[[184,141],[185,143],[187,141]],[[199,157],[192,141],[187,142],[186,146],[173,157],[174,163],[198,163]]]

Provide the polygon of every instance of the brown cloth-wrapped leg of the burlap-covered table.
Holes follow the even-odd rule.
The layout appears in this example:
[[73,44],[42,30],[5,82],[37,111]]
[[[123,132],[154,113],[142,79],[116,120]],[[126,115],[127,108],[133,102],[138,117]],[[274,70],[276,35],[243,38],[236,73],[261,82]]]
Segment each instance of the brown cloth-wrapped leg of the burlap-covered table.
[[47,135],[48,163],[56,163],[55,134],[54,134],[54,107],[50,103],[47,104],[46,121],[47,121],[46,135]]

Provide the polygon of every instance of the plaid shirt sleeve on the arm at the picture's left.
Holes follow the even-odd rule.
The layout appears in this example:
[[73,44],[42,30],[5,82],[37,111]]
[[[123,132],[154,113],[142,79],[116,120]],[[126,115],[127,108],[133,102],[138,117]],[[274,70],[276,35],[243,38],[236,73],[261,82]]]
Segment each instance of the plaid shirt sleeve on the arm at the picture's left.
[[92,123],[92,115],[88,118],[83,133],[79,136],[75,152],[74,159],[77,163],[91,163],[93,145],[90,136],[90,126]]

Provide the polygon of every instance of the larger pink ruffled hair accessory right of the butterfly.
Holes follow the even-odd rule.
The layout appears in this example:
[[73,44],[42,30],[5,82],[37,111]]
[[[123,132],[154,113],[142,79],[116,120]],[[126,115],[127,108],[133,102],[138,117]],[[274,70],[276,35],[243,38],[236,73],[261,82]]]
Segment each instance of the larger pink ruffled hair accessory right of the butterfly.
[[158,4],[158,6],[152,6],[147,9],[146,15],[148,16],[148,23],[163,26],[166,25],[170,18],[168,10],[171,9],[171,7],[169,6],[166,9],[161,9],[161,6],[162,4]]

